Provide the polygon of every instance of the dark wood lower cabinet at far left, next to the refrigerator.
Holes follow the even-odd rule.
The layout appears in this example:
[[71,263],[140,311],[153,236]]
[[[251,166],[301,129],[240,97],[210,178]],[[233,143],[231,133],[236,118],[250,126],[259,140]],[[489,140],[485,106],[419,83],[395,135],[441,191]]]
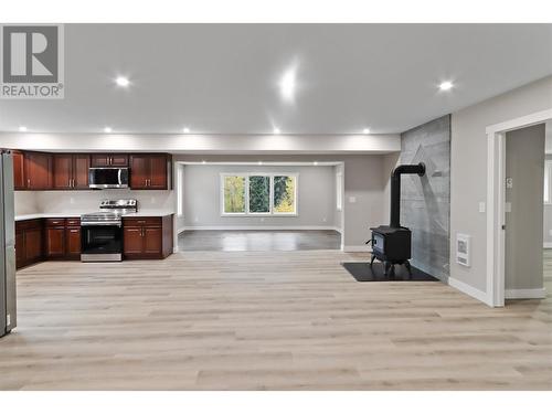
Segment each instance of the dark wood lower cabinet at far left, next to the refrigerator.
[[40,262],[42,254],[42,220],[15,222],[15,267]]

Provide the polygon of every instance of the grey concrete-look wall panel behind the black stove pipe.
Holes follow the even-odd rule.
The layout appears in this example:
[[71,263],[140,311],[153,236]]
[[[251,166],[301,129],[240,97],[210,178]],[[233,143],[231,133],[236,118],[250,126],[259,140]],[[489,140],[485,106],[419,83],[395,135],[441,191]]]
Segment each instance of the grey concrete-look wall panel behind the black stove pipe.
[[401,224],[412,230],[412,264],[442,279],[449,275],[450,116],[401,135],[401,163],[424,162],[424,177],[403,176]]

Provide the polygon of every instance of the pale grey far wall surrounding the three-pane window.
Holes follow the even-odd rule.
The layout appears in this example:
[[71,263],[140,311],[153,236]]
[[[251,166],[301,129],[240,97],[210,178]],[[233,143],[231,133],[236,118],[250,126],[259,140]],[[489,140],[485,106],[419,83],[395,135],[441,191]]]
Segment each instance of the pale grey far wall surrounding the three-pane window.
[[[221,215],[223,172],[298,173],[297,216]],[[212,166],[184,168],[184,225],[192,226],[320,226],[337,227],[333,166]]]

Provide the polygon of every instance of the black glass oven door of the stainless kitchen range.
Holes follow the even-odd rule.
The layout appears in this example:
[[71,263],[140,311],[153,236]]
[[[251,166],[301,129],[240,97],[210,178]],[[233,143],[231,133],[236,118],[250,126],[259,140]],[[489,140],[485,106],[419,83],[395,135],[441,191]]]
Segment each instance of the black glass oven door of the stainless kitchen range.
[[120,224],[82,225],[82,262],[118,262],[123,259]]

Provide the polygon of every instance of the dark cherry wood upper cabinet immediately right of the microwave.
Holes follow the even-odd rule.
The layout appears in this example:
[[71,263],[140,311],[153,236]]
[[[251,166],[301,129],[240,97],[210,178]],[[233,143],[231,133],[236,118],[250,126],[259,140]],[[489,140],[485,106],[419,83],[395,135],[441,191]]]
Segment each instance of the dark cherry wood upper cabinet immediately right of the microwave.
[[170,156],[130,156],[130,188],[134,190],[168,190],[170,188]]

